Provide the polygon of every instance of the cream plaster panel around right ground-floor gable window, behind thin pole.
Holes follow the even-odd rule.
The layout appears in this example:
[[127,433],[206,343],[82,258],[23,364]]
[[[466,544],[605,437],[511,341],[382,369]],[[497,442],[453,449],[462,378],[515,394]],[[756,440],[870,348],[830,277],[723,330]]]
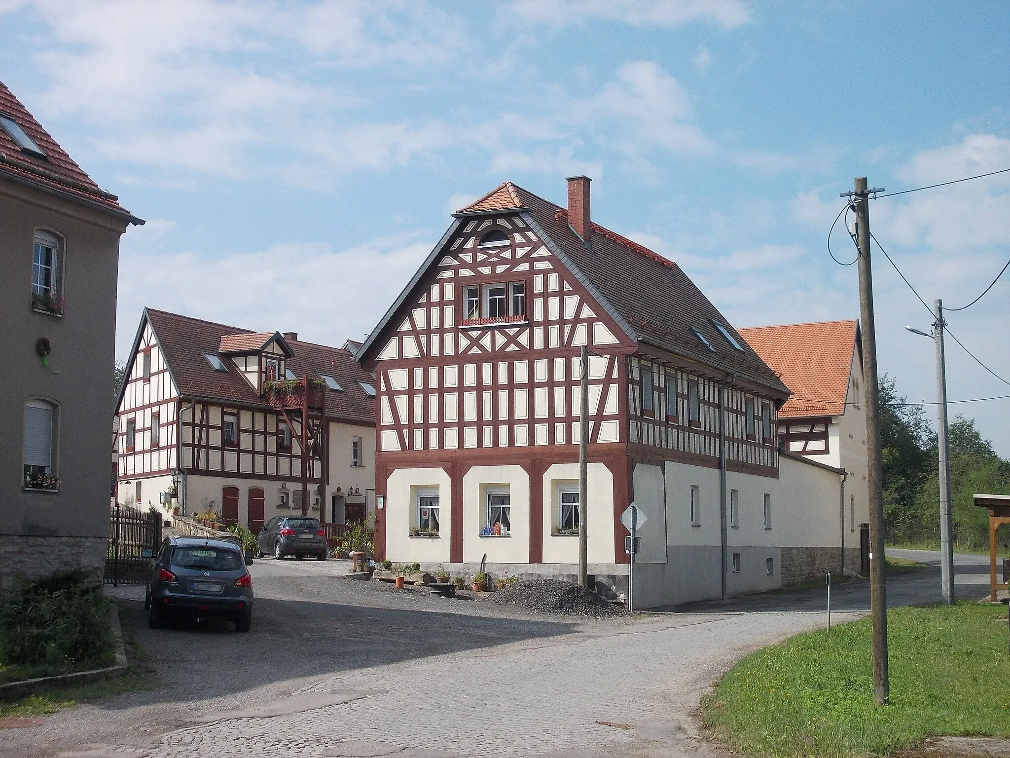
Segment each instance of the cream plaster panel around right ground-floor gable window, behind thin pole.
[[[614,475],[603,463],[587,466],[587,552],[589,563],[613,564]],[[543,474],[543,562],[579,563],[579,538],[552,535],[557,516],[557,483],[578,482],[579,464],[556,463]]]

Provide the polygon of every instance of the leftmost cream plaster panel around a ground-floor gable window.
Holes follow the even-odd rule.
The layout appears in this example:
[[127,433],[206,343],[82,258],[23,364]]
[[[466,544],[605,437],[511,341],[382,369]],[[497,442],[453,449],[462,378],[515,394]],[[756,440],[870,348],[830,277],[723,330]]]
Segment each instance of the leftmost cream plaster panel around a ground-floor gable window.
[[[438,489],[437,538],[410,536],[414,526],[412,488],[416,487]],[[444,469],[396,469],[386,480],[386,557],[397,563],[447,564],[452,535],[451,508],[451,480]]]

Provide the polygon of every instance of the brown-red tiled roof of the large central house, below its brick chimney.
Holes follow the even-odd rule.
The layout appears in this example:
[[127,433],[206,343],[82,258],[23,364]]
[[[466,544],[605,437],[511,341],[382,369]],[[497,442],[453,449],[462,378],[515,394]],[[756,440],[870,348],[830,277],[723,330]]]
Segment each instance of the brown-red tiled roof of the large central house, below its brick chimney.
[[[591,223],[591,249],[587,250],[569,225],[565,208],[512,182],[505,182],[460,212],[516,209],[534,217],[639,335],[675,354],[758,382],[775,395],[788,393],[786,385],[743,340],[738,340],[742,352],[726,343],[712,321],[738,337],[735,329],[673,261],[595,222]],[[698,342],[692,327],[705,336],[715,353]]]

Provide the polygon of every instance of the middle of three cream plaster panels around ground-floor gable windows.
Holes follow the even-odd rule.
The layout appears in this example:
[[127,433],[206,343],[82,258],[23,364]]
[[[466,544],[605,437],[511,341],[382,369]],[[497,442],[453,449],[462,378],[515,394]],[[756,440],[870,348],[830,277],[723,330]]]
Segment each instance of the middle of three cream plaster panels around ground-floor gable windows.
[[[508,537],[482,537],[487,486],[507,487],[512,509]],[[474,466],[463,477],[463,560],[529,563],[529,475],[522,466]]]

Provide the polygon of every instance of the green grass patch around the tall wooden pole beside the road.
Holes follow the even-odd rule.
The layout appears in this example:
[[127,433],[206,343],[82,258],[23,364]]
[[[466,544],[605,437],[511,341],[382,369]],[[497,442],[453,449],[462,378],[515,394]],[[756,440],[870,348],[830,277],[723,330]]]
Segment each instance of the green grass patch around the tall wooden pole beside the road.
[[705,726],[754,756],[886,755],[939,735],[1010,736],[1005,605],[892,608],[890,703],[874,705],[870,619],[740,661]]

